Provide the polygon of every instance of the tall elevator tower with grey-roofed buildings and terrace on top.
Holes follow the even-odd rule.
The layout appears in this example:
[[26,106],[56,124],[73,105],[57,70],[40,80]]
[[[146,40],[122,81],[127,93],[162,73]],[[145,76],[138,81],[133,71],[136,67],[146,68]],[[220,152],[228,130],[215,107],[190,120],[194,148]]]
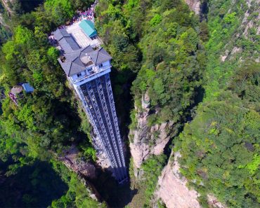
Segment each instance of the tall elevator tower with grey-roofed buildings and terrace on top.
[[119,183],[127,179],[122,141],[110,82],[112,57],[100,47],[93,23],[87,20],[53,32],[61,67],[82,101],[96,137]]

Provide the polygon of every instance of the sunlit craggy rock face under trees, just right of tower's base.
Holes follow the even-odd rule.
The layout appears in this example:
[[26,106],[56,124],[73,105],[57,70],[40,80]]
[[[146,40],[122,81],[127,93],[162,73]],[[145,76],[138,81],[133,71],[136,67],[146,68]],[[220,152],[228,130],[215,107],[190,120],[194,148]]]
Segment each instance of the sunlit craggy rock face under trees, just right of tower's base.
[[[148,116],[150,115],[149,98],[145,94],[142,99],[142,109],[135,107],[137,125],[130,130],[130,151],[134,159],[134,174],[138,175],[137,168],[146,160],[149,155],[160,155],[171,138],[172,122],[152,125],[148,127]],[[156,113],[156,112],[155,112]]]

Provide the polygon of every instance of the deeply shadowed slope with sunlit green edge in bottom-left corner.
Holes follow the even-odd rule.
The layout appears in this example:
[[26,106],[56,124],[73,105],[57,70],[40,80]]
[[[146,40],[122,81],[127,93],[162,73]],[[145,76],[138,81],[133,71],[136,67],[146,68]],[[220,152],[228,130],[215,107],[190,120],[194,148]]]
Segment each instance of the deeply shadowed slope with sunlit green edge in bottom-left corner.
[[9,160],[0,162],[0,174],[7,176],[0,181],[1,207],[105,207],[89,196],[77,174],[61,162],[36,160],[9,175]]

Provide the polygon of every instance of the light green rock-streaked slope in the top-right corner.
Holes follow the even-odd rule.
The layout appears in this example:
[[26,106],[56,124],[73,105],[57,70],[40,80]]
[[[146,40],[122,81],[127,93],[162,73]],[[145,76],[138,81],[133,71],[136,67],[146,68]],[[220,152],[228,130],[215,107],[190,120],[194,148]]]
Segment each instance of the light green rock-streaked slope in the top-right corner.
[[[245,0],[209,1],[207,28],[210,39],[205,43],[208,64],[204,99],[218,96],[219,88],[226,87],[235,69],[243,62],[259,57],[259,35],[255,31],[259,27],[257,8],[256,1],[252,1],[250,7]],[[252,28],[246,32],[249,22]],[[223,62],[221,56],[225,55]]]

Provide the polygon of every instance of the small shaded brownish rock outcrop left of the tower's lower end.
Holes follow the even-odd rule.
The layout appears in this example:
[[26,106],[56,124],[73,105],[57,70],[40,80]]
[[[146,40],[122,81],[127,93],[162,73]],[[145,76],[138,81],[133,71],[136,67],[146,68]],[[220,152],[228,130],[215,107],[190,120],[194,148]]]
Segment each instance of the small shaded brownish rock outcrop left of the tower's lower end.
[[64,155],[58,156],[58,160],[62,161],[67,168],[72,169],[77,174],[94,179],[96,177],[96,167],[91,162],[85,162],[78,158],[78,149],[72,146],[65,151]]

